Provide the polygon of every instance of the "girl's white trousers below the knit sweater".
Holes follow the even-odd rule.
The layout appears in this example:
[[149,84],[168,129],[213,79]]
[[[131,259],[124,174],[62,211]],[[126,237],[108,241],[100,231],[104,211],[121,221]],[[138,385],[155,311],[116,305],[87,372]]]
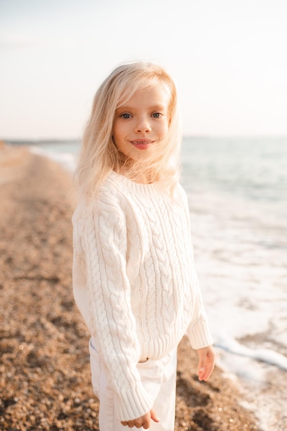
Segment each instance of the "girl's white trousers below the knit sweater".
[[[91,377],[93,391],[100,400],[99,423],[100,431],[128,431],[115,414],[114,395],[108,379],[101,366],[95,350],[93,339],[90,340]],[[175,399],[176,399],[176,349],[162,359],[137,364],[141,383],[154,400],[152,408],[159,417],[159,423],[151,420],[150,431],[174,431]],[[133,419],[133,418],[130,418]],[[133,428],[143,430],[143,428]],[[144,431],[144,430],[143,430]]]

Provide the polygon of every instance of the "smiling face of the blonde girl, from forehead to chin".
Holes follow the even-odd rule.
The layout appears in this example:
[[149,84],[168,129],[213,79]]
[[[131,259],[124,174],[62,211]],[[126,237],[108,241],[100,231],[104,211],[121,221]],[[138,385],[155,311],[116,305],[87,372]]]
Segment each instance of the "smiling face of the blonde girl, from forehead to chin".
[[115,111],[113,139],[128,158],[143,160],[168,133],[170,92],[163,85],[139,90]]

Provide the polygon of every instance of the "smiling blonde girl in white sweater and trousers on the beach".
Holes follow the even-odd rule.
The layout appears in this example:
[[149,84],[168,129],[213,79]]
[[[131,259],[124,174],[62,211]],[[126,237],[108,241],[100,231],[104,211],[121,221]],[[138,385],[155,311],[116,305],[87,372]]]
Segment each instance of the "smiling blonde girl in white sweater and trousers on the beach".
[[200,380],[214,350],[179,185],[170,76],[117,67],[95,94],[76,171],[73,293],[90,332],[100,430],[174,430],[176,348],[187,333]]

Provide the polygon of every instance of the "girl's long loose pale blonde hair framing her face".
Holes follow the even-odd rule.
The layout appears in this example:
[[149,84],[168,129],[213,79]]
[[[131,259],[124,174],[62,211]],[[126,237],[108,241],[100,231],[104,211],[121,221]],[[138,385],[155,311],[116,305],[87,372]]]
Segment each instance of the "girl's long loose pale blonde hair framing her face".
[[[160,83],[170,92],[168,134],[152,158],[130,160],[113,141],[115,110],[135,92]],[[145,177],[149,182],[161,182],[165,191],[172,191],[179,180],[180,143],[176,87],[170,75],[154,63],[121,65],[100,85],[93,100],[76,168],[80,192],[91,198],[111,170],[122,172],[123,167],[130,180],[139,182],[139,178]]]

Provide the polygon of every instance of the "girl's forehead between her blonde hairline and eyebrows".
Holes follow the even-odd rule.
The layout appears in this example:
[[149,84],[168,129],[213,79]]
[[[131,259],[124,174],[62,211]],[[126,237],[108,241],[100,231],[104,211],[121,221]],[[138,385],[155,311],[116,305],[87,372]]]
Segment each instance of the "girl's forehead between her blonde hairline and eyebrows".
[[150,85],[148,87],[136,90],[132,95],[126,94],[122,101],[119,101],[119,107],[153,107],[159,106],[168,108],[170,105],[170,89],[164,83]]

